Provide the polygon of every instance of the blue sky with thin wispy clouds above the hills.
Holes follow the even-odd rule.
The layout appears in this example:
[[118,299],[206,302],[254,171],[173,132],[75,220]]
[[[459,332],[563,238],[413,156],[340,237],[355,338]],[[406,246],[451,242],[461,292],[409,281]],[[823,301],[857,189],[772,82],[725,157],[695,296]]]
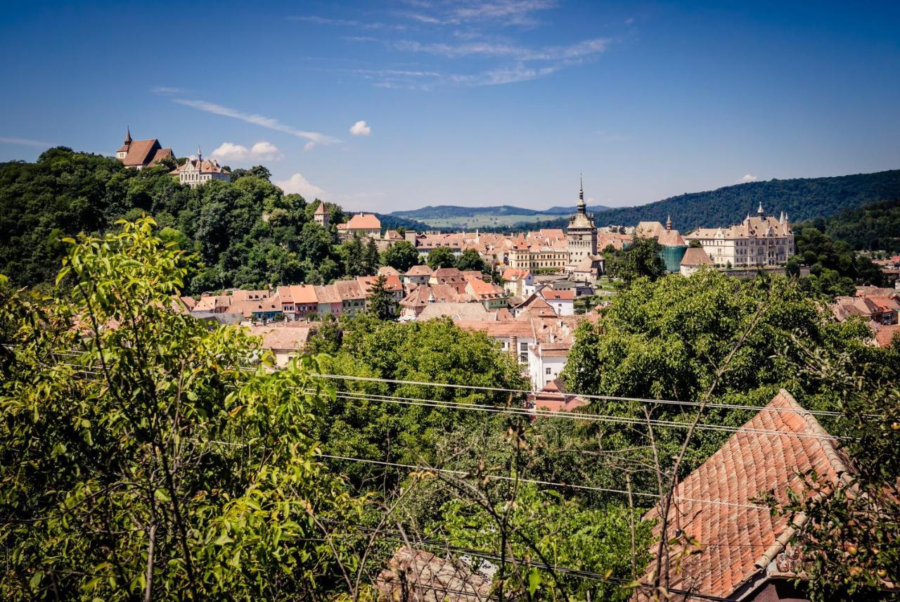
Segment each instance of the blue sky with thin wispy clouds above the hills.
[[[354,210],[900,167],[900,3],[396,0],[8,4],[0,161],[263,163]],[[360,123],[362,121],[362,123]]]

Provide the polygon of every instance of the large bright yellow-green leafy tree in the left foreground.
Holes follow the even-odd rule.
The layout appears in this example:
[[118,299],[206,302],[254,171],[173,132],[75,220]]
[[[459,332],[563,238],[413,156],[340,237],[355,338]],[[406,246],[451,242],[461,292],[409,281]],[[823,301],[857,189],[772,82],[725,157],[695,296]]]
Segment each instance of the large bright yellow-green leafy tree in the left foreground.
[[322,521],[357,505],[316,460],[318,368],[241,370],[258,342],[175,310],[181,252],[152,225],[67,241],[40,309],[0,291],[0,592],[327,598],[350,540],[317,543]]

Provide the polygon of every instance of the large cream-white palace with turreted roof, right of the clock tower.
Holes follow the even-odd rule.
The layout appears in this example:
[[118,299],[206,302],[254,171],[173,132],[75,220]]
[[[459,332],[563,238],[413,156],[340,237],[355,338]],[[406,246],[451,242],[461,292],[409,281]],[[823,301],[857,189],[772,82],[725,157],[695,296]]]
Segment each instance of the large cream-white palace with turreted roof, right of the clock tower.
[[730,228],[698,228],[684,239],[698,240],[716,267],[784,265],[794,255],[794,231],[784,211],[766,217],[760,208]]

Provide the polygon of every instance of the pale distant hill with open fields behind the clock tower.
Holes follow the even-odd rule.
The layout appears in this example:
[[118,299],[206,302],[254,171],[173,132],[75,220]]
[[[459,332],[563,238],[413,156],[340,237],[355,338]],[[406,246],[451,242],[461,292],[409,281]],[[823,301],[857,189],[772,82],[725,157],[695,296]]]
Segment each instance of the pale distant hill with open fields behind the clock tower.
[[[607,207],[592,205],[589,211],[605,211]],[[536,224],[558,220],[572,213],[572,207],[551,207],[548,210],[526,209],[513,205],[491,207],[461,207],[459,205],[428,205],[411,211],[393,211],[388,215],[404,220],[417,220],[429,228],[489,228],[503,229],[514,224]]]

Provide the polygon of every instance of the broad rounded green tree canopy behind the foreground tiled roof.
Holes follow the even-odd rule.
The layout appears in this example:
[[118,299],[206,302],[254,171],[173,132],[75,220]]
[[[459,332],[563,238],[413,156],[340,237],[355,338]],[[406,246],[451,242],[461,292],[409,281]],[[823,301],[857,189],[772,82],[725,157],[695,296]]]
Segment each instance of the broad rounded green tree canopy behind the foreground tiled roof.
[[[883,354],[869,345],[872,336],[865,324],[831,319],[788,279],[745,281],[705,269],[689,278],[641,279],[620,292],[596,325],[579,328],[563,378],[572,391],[582,393],[698,401],[712,390],[713,400],[756,405],[784,387],[815,407],[833,400],[798,380],[801,356],[795,340],[852,354],[860,370],[887,375],[900,368],[879,362]],[[735,346],[740,349],[727,360]],[[643,417],[641,405],[610,401],[599,409]],[[654,412],[655,418],[686,416],[689,409],[679,406],[663,405]],[[749,415],[720,411],[709,418],[740,426]],[[608,432],[624,436],[617,430],[612,426]],[[678,445],[678,433],[658,435],[663,444]],[[699,436],[685,472],[724,439],[718,433]]]

